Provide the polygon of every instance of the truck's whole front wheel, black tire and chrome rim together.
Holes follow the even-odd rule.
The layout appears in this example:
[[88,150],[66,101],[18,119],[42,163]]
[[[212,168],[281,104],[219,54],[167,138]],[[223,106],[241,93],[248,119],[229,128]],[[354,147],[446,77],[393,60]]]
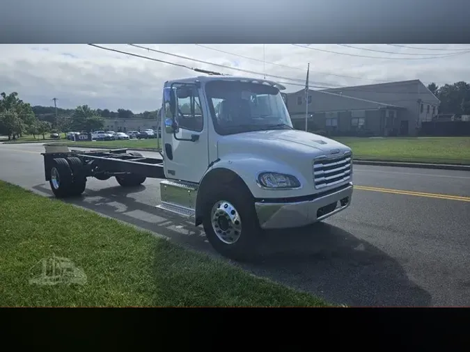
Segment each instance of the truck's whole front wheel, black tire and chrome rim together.
[[253,197],[241,186],[207,196],[203,218],[207,240],[224,257],[251,261],[258,257],[261,229]]

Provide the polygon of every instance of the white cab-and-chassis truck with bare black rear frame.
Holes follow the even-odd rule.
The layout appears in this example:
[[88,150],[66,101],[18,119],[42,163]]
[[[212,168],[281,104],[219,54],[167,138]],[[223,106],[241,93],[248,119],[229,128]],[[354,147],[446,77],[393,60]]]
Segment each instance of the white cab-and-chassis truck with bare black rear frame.
[[45,178],[57,197],[83,193],[86,177],[125,187],[163,179],[159,209],[203,225],[222,255],[253,258],[264,230],[322,221],[352,200],[351,149],[293,129],[283,89],[244,77],[167,81],[162,159],[49,146]]

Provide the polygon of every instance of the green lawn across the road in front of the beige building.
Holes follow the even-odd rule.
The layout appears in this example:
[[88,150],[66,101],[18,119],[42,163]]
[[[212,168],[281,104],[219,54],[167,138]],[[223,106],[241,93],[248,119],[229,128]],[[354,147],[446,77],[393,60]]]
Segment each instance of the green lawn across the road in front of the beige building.
[[470,164],[470,138],[334,138],[354,159]]

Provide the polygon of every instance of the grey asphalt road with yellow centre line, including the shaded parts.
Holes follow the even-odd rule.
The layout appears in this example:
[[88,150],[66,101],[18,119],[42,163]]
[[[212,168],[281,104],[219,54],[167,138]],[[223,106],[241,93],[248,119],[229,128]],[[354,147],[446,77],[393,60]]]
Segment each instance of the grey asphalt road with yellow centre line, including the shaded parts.
[[[52,196],[43,150],[0,144],[0,179]],[[470,173],[354,166],[354,184],[346,211],[269,232],[264,261],[244,269],[347,305],[469,306]],[[70,202],[215,255],[201,227],[155,208],[158,179],[132,191],[90,179]]]

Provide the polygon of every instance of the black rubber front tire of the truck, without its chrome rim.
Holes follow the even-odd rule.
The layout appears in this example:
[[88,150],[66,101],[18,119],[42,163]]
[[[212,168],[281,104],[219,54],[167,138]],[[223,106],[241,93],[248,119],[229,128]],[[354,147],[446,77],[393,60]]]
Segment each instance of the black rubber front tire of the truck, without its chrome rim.
[[[214,227],[220,224],[213,220],[212,207],[219,203],[220,208],[224,208],[225,205],[222,201],[226,201],[229,205],[232,205],[235,208],[235,214],[240,218],[241,231],[235,243],[222,241],[214,231]],[[230,207],[228,209],[230,209]],[[236,220],[233,221],[232,225],[234,227],[229,229],[235,234],[237,232],[236,229],[240,228],[235,227],[236,222]],[[214,223],[214,227],[212,223]],[[252,262],[259,259],[262,230],[258,223],[258,216],[256,216],[253,196],[250,191],[246,189],[245,185],[237,184],[234,186],[228,185],[224,188],[219,187],[217,191],[208,194],[203,210],[203,227],[207,240],[212,247],[224,257],[239,262]]]

